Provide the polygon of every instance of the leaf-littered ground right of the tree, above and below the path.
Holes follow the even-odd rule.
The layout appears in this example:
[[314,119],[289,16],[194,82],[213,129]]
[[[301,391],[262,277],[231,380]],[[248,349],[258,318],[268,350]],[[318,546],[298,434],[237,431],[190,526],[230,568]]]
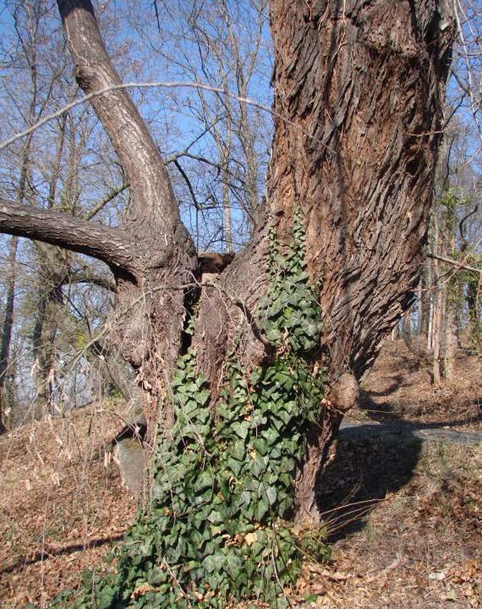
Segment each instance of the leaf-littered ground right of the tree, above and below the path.
[[[433,386],[429,362],[403,341],[388,342],[349,415],[481,429],[482,361],[459,351],[455,366],[452,382]],[[482,606],[481,472],[481,445],[410,436],[337,441],[320,497],[334,561],[305,573],[303,592],[317,595],[305,606]],[[344,509],[345,503],[352,505]]]

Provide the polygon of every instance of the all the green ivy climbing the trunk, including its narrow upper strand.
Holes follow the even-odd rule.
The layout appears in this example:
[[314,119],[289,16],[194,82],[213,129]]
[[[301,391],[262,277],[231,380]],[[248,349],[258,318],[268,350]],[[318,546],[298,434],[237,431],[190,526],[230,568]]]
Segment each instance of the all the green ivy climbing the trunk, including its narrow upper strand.
[[158,439],[151,506],[115,556],[117,572],[86,573],[71,606],[222,608],[228,599],[256,598],[282,607],[304,548],[327,553],[316,535],[300,539],[288,522],[307,428],[324,395],[312,366],[321,321],[300,214],[284,256],[272,234],[268,269],[258,321],[276,355],[250,374],[230,359],[215,415],[196,352],[179,358],[176,422]]

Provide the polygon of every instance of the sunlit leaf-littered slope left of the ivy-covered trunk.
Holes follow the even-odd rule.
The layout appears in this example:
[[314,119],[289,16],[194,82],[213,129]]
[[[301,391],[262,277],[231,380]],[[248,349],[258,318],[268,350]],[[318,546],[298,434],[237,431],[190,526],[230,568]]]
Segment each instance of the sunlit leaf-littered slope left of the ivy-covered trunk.
[[108,463],[118,417],[91,405],[0,437],[0,606],[42,604],[99,563],[134,503]]

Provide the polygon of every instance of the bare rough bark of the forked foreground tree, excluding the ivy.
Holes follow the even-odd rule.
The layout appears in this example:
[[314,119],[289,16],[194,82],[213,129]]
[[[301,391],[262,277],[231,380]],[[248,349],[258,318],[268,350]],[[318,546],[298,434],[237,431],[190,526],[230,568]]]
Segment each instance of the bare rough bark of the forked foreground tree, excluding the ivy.
[[[119,84],[90,2],[58,5],[84,92]],[[3,202],[0,222],[3,232],[110,265],[118,291],[113,331],[137,370],[148,420],[163,425],[172,421],[164,398],[188,342],[210,382],[213,407],[227,353],[236,348],[248,370],[265,358],[246,310],[255,313],[267,290],[267,227],[284,246],[299,211],[310,277],[322,278],[322,351],[312,364],[326,368],[331,384],[297,481],[298,517],[315,520],[320,454],[419,280],[453,29],[445,3],[436,0],[272,0],[270,6],[276,130],[264,221],[209,285],[191,288],[199,277],[194,246],[157,146],[123,90],[93,100],[131,184],[133,204],[122,227],[92,230],[89,222],[60,215],[55,225],[51,213]],[[183,323],[194,299],[196,329],[188,338]]]

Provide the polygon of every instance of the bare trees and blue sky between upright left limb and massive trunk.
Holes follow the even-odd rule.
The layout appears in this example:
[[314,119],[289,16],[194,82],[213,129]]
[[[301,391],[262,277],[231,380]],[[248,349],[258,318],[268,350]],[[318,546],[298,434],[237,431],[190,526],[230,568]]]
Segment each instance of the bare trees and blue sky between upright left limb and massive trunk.
[[127,18],[141,52],[149,49],[151,71],[220,89],[167,93],[167,103],[181,112],[177,132],[172,124],[163,128],[162,149],[197,249],[239,250],[265,192],[272,137],[269,114],[246,103],[253,96],[271,103],[267,1],[180,1],[162,20],[144,23],[138,11]]

